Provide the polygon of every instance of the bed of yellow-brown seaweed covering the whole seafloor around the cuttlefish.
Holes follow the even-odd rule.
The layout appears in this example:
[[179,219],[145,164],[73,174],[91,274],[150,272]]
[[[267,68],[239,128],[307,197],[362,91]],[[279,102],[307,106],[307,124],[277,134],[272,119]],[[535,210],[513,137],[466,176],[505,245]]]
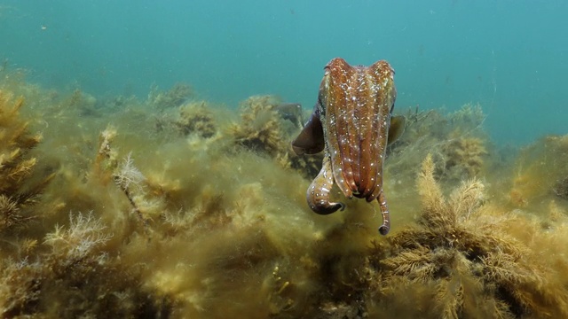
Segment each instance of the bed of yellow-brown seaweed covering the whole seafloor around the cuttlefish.
[[566,136],[509,160],[479,105],[408,110],[380,237],[376,203],[306,206],[322,158],[294,154],[307,116],[277,97],[232,110],[185,85],[102,98],[2,72],[0,317],[568,315]]

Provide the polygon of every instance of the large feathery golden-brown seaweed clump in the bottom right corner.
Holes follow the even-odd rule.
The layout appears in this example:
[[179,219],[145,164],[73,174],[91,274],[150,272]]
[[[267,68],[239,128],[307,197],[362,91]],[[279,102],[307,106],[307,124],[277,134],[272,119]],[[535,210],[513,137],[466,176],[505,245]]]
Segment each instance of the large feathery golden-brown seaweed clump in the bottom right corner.
[[375,245],[370,267],[379,307],[433,318],[568,315],[568,290],[556,284],[557,273],[507,232],[519,222],[525,231],[538,229],[486,203],[477,180],[445,198],[434,170],[429,156],[418,178],[418,225],[390,237],[389,249]]

